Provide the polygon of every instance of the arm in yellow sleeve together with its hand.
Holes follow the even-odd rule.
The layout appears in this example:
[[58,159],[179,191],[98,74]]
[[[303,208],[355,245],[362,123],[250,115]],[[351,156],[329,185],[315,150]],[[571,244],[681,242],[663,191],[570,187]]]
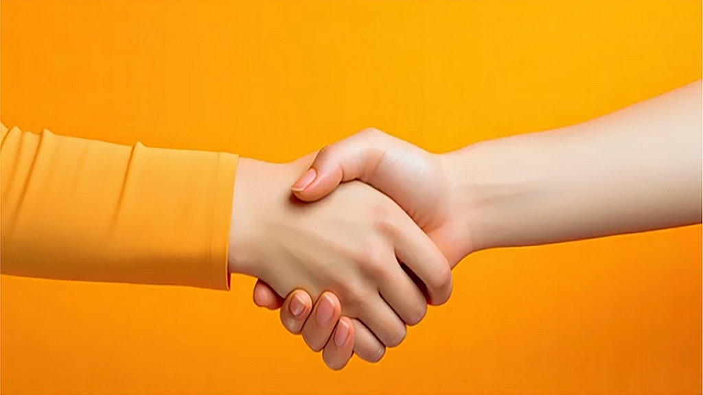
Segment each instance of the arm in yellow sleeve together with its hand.
[[[451,271],[427,235],[388,197],[349,183],[317,205],[291,200],[310,163],[134,147],[2,129],[3,274],[227,289],[229,271],[264,278],[280,294],[339,295],[319,328],[335,352],[370,361],[404,340]],[[237,188],[234,188],[235,176]],[[234,190],[234,193],[233,193]],[[335,296],[335,300],[337,297]],[[344,318],[337,324],[340,313]],[[318,344],[318,350],[325,342]],[[325,353],[327,349],[325,349]]]

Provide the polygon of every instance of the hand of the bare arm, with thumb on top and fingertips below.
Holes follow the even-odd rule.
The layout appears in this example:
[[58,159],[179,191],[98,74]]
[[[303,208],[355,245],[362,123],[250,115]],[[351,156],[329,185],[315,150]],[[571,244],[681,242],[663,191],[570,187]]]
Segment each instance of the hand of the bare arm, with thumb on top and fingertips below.
[[[430,236],[439,250],[449,259],[451,267],[456,266],[460,259],[475,249],[471,238],[466,238],[472,219],[463,218],[459,213],[471,212],[458,209],[460,202],[453,196],[451,179],[451,156],[434,155],[394,138],[377,129],[366,129],[354,136],[328,145],[317,155],[310,169],[300,177],[292,187],[299,199],[311,202],[321,199],[335,190],[340,183],[359,179],[364,183],[392,197]],[[455,192],[456,194],[456,192]],[[458,238],[457,235],[463,235]],[[307,304],[305,310],[295,316],[287,306],[290,306],[290,295],[281,310],[281,319],[286,328],[292,333],[314,332],[307,329],[307,316],[312,302],[309,297],[302,297]],[[254,287],[254,302],[269,309],[278,309],[282,299],[262,281]],[[329,302],[321,299],[318,305]],[[304,336],[306,342],[318,344],[325,342],[329,335],[320,337]],[[351,339],[350,342],[354,342]],[[356,338],[357,351],[360,339]],[[347,361],[335,359],[343,353],[325,358],[330,368],[345,365]]]

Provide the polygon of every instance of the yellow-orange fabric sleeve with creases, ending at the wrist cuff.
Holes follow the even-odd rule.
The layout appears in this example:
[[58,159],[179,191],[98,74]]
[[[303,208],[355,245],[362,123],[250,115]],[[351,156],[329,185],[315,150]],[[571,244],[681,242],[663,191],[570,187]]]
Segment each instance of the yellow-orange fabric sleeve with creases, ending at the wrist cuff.
[[226,290],[238,157],[2,125],[2,274]]

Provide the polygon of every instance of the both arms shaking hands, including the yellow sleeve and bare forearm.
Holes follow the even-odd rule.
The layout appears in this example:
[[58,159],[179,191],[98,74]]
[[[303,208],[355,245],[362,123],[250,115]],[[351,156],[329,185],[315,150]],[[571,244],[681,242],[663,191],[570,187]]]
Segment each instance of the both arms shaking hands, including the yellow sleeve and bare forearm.
[[472,252],[700,224],[701,88],[444,154],[367,129],[288,164],[0,125],[0,273],[221,290],[226,255],[330,368],[376,362]]

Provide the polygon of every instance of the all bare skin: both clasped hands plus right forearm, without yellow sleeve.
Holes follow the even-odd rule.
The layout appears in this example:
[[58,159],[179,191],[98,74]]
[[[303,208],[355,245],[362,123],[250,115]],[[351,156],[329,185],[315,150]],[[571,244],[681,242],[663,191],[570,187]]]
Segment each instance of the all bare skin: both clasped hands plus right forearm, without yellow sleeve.
[[472,252],[699,224],[700,108],[696,83],[446,154],[366,129],[288,164],[242,158],[229,270],[330,368],[379,361]]

